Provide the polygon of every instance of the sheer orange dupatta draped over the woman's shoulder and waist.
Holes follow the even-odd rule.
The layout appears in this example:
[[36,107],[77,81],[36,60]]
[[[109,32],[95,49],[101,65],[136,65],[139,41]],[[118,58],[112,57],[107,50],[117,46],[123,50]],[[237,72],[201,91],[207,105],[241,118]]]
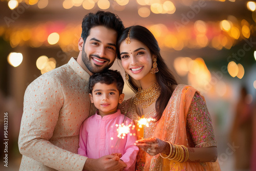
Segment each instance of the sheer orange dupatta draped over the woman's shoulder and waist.
[[[177,86],[157,124],[154,137],[173,144],[182,144],[189,147],[186,134],[186,116],[196,92],[198,92],[196,89],[184,84]],[[159,154],[150,156],[147,153],[145,160],[145,171],[220,170],[218,161],[179,163],[169,159],[163,159]]]

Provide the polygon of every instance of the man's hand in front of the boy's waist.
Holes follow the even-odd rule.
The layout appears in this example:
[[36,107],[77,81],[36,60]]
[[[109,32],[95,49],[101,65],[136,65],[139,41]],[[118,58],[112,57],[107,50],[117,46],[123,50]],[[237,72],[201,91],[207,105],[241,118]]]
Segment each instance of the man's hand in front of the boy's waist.
[[84,170],[90,171],[120,171],[126,164],[118,156],[107,155],[98,159],[87,159]]

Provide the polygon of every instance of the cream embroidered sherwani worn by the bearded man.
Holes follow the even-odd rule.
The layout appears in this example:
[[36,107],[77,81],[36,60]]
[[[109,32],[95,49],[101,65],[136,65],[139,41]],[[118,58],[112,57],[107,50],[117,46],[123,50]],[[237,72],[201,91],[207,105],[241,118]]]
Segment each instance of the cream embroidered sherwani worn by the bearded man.
[[90,113],[88,80],[74,58],[34,80],[24,96],[19,170],[82,170],[79,129]]

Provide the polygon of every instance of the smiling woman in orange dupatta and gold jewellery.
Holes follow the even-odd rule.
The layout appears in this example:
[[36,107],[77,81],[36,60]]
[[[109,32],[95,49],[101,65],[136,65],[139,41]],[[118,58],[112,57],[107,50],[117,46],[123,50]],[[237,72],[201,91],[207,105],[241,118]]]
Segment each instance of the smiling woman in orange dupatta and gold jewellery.
[[[158,42],[142,26],[126,28],[118,41],[125,77],[136,95],[120,105],[135,121],[155,118],[138,129],[137,170],[220,170],[217,142],[204,98],[177,84]],[[142,139],[143,138],[143,139]]]

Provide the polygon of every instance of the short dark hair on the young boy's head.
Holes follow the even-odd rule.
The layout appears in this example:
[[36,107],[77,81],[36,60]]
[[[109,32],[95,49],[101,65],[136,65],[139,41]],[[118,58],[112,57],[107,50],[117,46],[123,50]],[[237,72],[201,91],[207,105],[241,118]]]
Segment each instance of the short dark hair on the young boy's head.
[[92,93],[93,87],[96,83],[112,84],[116,83],[116,88],[119,91],[119,95],[123,92],[124,81],[119,71],[106,70],[102,73],[93,74],[89,79],[89,91]]

